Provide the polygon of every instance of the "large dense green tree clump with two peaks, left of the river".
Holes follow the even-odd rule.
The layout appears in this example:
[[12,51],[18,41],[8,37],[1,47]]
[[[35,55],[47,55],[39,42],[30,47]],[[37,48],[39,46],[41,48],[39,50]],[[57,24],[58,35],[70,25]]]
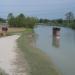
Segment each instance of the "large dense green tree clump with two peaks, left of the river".
[[12,13],[8,15],[8,24],[10,27],[33,28],[36,23],[38,23],[38,19],[35,17],[26,17],[24,14],[14,17]]

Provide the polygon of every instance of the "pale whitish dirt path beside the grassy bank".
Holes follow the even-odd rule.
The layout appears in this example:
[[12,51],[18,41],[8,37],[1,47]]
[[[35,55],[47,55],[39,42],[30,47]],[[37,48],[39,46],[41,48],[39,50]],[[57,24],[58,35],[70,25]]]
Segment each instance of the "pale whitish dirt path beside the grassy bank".
[[0,38],[0,68],[9,75],[26,75],[25,61],[22,60],[20,52],[17,52],[18,38],[19,35]]

